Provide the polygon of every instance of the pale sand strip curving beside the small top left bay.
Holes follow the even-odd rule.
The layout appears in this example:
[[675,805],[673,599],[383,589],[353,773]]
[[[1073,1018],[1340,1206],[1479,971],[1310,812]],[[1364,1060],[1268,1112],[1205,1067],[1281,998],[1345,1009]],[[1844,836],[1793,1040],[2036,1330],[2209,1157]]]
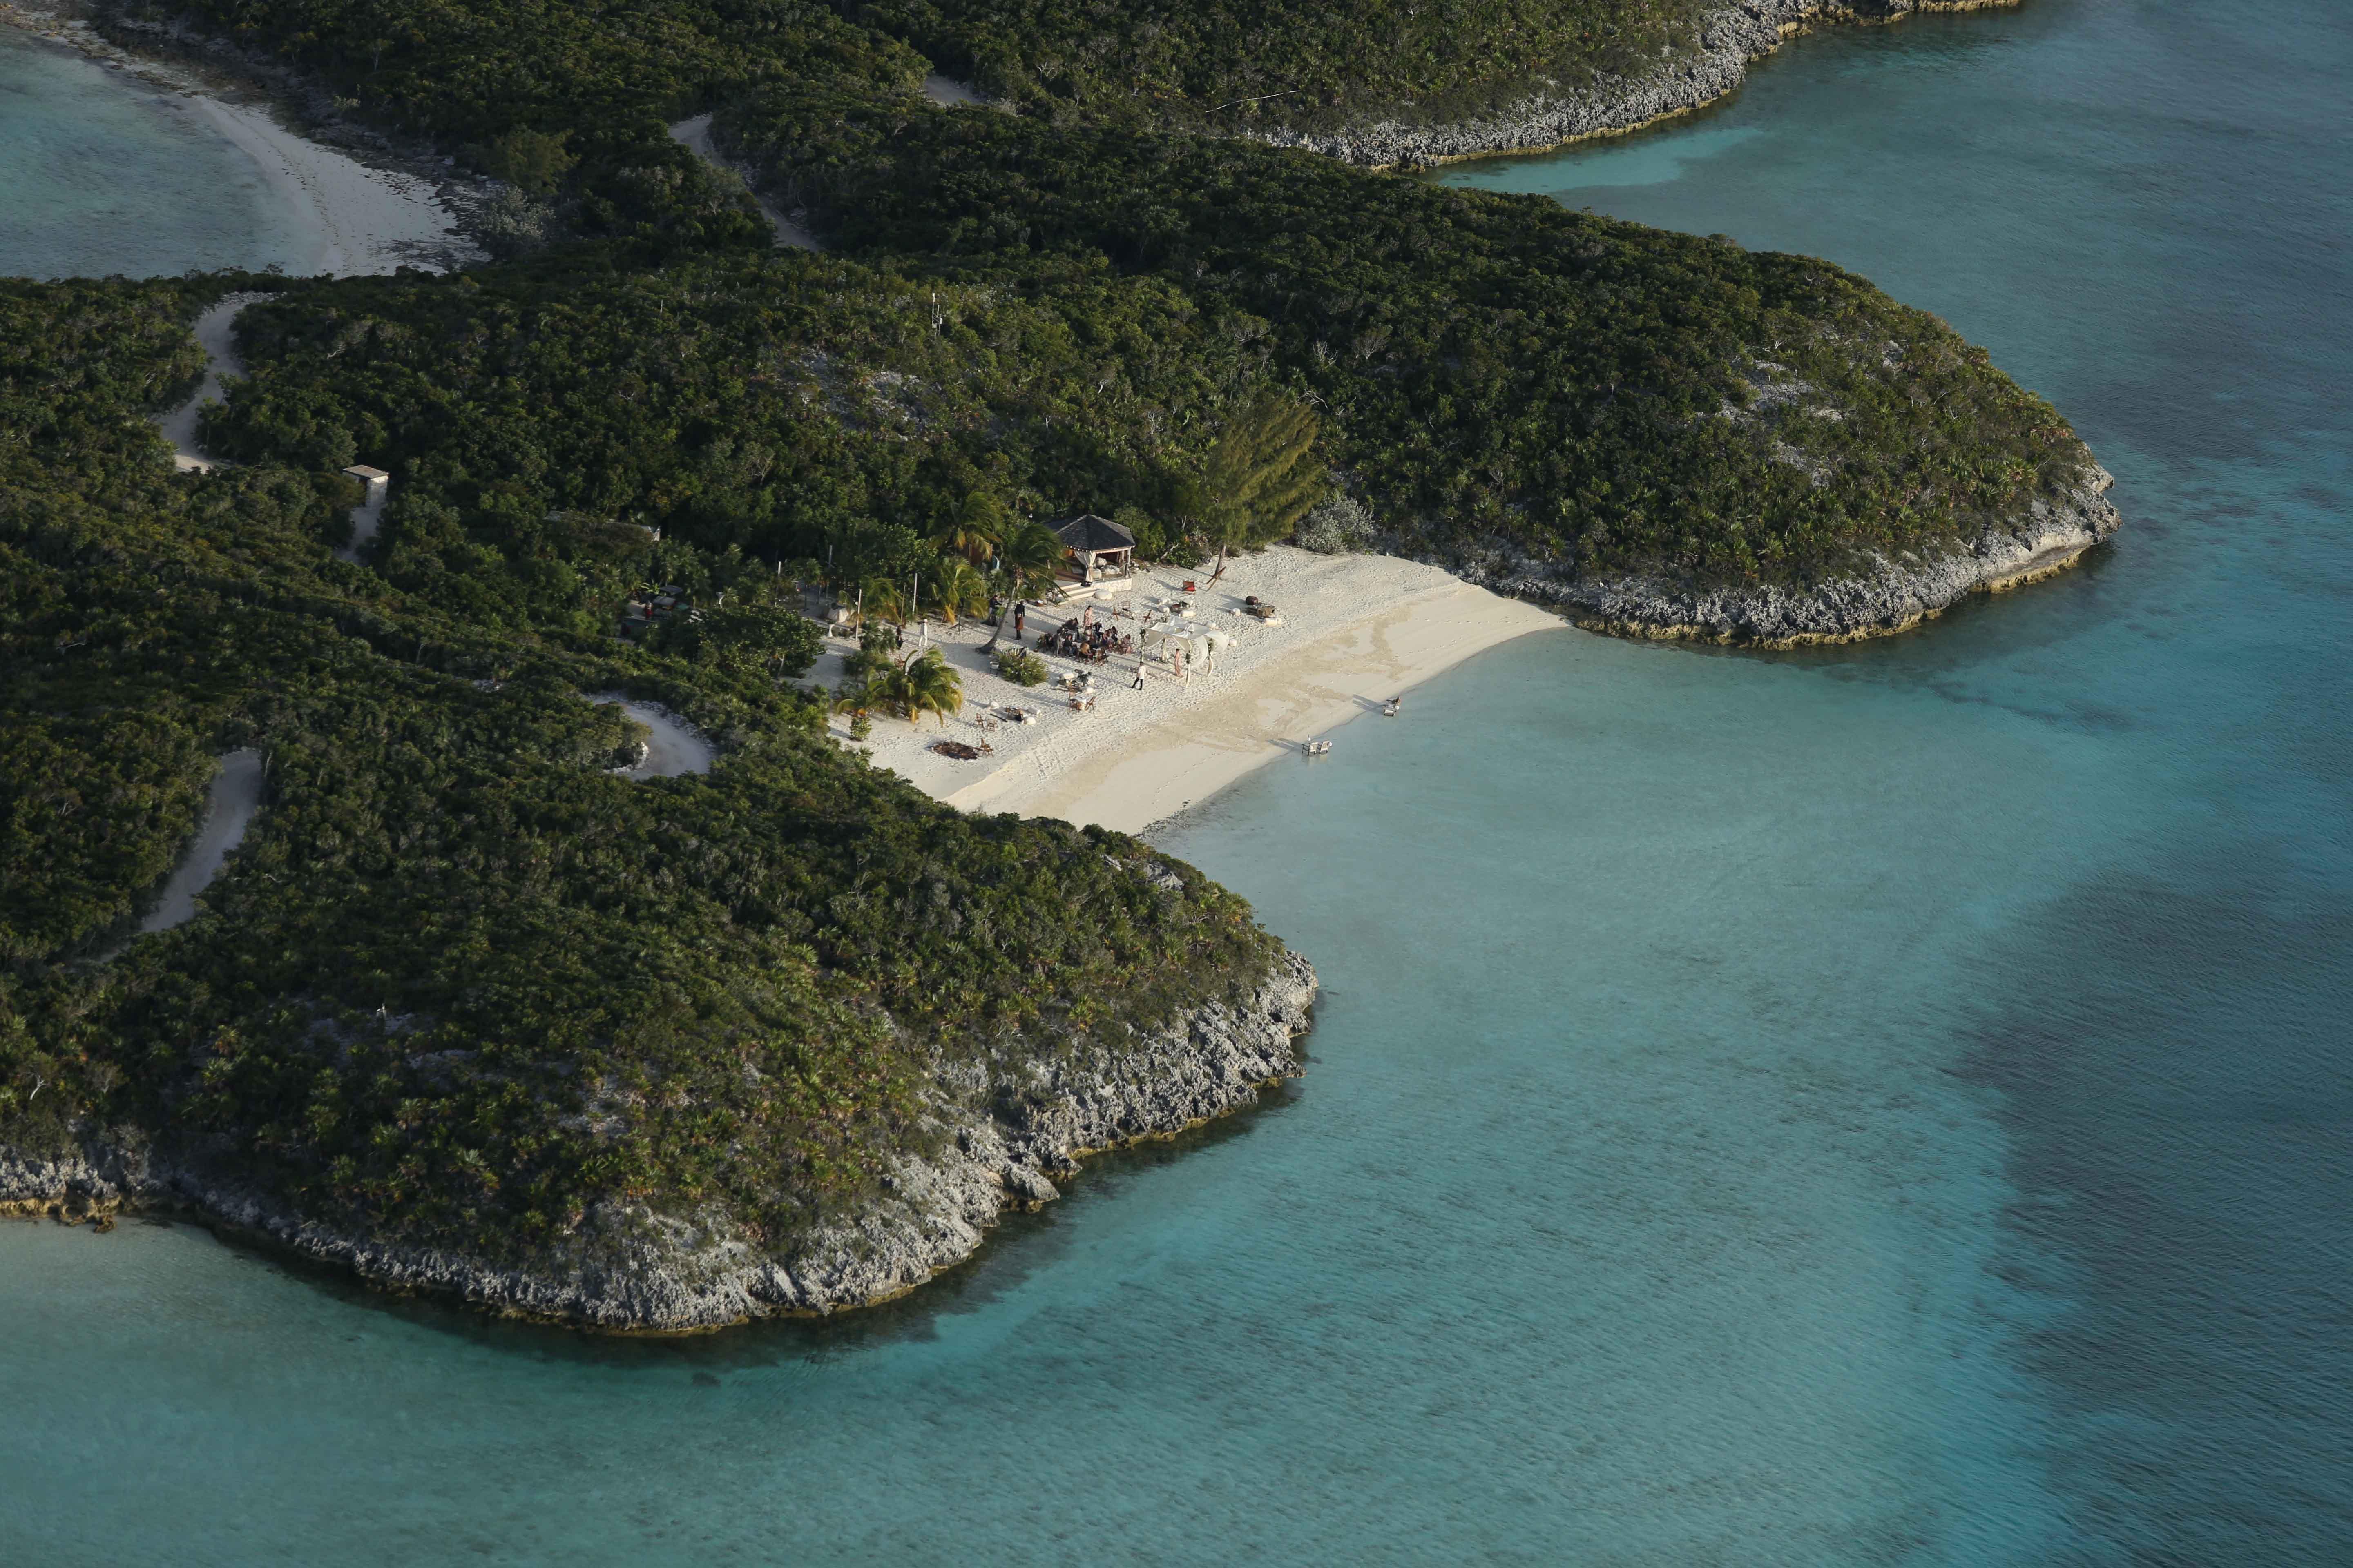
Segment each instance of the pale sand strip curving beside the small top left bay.
[[313,273],[355,277],[402,266],[433,273],[480,259],[456,237],[456,219],[433,181],[369,169],[304,141],[252,103],[195,94],[195,106],[306,214],[315,233]]

